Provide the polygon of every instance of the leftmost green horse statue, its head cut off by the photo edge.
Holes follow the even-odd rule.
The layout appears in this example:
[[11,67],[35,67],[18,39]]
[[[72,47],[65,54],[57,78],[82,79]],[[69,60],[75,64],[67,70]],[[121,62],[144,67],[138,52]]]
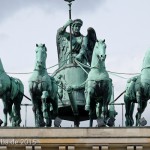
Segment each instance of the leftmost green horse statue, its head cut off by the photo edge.
[[20,126],[20,105],[23,99],[24,86],[22,82],[6,74],[0,59],[0,98],[4,104],[4,126],[7,126],[7,114],[13,127]]

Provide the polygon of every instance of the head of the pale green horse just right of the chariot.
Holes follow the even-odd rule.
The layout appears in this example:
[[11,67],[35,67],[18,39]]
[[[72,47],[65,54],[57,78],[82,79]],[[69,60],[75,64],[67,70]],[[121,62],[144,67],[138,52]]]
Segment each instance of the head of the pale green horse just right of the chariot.
[[105,59],[106,59],[105,39],[97,40],[97,42],[95,43],[95,46],[94,46],[94,52],[100,61],[105,61]]

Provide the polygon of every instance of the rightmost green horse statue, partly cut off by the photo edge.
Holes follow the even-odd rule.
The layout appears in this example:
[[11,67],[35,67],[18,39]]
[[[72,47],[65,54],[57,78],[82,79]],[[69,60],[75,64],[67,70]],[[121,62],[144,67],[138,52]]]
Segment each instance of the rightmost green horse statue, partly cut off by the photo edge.
[[124,95],[126,108],[126,126],[133,126],[134,104],[137,103],[136,126],[140,125],[141,115],[144,112],[147,101],[150,99],[150,49],[143,59],[141,74],[128,80]]

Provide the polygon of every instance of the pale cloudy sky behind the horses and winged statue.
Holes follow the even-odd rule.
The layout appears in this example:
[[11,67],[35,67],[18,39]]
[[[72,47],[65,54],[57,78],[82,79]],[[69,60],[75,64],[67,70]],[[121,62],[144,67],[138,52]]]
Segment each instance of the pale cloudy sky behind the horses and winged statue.
[[[106,40],[106,68],[118,73],[140,73],[142,60],[150,47],[149,0],[75,0],[72,19],[83,20],[81,33],[93,27],[98,39]],[[68,5],[64,0],[0,0],[0,58],[5,71],[22,80],[25,95],[29,96],[28,80],[34,69],[36,43],[47,47],[46,66],[58,63],[56,33],[68,20]],[[53,73],[57,67],[49,69]],[[125,90],[129,75],[110,74],[117,97]],[[22,103],[29,103],[26,98]],[[116,103],[123,103],[123,96]],[[3,104],[0,101],[0,118],[3,120]],[[149,120],[149,104],[143,117]],[[122,125],[122,108],[116,106],[116,126]],[[125,111],[125,110],[124,110]],[[123,111],[123,112],[124,112]],[[22,107],[24,125],[25,109]],[[31,107],[28,108],[27,126],[34,126]],[[124,121],[124,118],[123,118]],[[71,123],[64,123],[71,126]],[[81,126],[88,126],[87,122]]]

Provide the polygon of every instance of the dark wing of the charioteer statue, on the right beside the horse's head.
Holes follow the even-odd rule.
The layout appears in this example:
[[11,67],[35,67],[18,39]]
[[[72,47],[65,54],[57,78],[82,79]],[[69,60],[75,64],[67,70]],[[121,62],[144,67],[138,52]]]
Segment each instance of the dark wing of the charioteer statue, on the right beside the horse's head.
[[87,43],[87,47],[88,47],[87,59],[88,59],[88,63],[91,65],[92,54],[93,54],[95,43],[97,41],[96,32],[92,27],[89,27],[87,29],[87,40],[88,40],[88,43]]

